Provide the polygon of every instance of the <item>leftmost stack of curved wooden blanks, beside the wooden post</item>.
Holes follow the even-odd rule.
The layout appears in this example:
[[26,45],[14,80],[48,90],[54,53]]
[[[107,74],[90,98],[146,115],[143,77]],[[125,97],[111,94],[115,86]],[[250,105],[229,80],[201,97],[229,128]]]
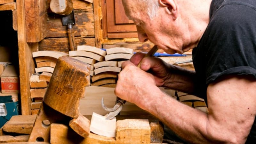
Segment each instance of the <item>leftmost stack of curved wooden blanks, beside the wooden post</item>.
[[58,58],[68,54],[58,51],[37,51],[32,53],[36,62],[35,74],[30,76],[31,114],[37,114]]

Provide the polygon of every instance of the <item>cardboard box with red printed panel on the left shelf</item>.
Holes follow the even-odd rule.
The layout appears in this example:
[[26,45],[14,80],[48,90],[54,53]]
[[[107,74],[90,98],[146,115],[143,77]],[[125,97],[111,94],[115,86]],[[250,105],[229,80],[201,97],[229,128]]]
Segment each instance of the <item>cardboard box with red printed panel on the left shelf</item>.
[[20,93],[20,80],[18,72],[13,65],[8,65],[1,75],[2,93],[18,94]]

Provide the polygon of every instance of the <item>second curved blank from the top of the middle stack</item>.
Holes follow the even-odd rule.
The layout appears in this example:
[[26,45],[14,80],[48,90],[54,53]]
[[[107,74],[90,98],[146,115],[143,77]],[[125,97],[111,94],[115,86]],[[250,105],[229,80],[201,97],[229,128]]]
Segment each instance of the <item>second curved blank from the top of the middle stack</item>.
[[104,61],[104,57],[99,54],[94,54],[92,52],[86,52],[86,51],[69,51],[69,56],[84,56],[89,57],[97,61]]

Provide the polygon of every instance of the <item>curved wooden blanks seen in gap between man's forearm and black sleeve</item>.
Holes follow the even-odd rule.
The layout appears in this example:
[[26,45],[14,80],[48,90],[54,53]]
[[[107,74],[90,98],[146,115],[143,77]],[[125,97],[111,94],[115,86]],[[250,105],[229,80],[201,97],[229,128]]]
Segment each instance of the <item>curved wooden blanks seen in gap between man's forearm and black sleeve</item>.
[[181,91],[176,91],[176,94],[181,103],[208,113],[208,108],[203,98],[196,97]]

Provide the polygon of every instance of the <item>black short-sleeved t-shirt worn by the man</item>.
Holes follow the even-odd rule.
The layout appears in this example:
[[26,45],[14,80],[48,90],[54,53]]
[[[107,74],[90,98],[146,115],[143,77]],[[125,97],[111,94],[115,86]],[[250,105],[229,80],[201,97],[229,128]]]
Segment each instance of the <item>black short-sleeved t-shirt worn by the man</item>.
[[[212,0],[209,25],[192,55],[198,96],[206,102],[208,84],[220,76],[256,78],[256,0]],[[248,140],[253,137],[255,122]]]

